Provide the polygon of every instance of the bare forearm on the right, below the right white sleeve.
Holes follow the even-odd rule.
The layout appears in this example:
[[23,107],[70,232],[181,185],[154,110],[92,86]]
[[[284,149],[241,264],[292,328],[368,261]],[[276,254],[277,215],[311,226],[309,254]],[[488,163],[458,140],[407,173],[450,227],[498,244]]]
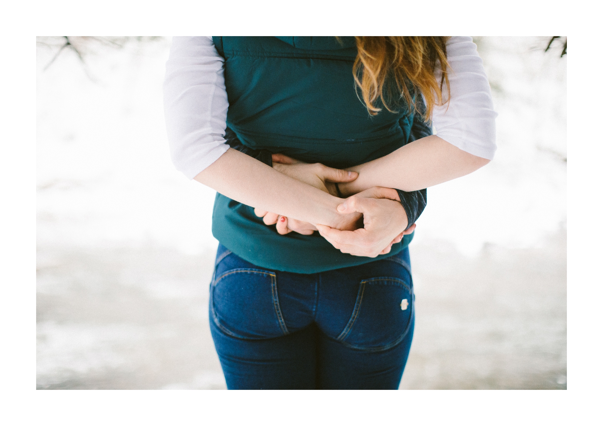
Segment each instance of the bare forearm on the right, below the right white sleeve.
[[344,196],[373,186],[417,191],[472,173],[489,160],[469,154],[432,135],[398,148],[391,154],[347,170],[358,172],[353,182],[340,183]]

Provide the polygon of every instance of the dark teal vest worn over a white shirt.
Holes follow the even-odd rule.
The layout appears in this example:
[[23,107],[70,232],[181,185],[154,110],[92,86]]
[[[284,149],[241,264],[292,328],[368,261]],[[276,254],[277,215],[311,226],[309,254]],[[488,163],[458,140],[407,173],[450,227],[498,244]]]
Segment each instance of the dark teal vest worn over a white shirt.
[[[242,144],[301,161],[345,168],[405,145],[413,114],[383,109],[369,116],[354,86],[354,37],[213,37],[224,57],[227,126]],[[241,258],[268,269],[316,273],[392,256],[411,235],[377,258],[341,253],[314,232],[280,235],[253,208],[216,194],[213,236]]]

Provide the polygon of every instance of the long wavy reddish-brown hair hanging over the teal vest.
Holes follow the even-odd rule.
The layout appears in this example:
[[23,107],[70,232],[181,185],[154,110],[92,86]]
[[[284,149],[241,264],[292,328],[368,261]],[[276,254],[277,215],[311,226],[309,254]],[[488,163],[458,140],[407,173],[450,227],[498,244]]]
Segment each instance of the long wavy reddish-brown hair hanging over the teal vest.
[[[450,99],[448,84],[449,64],[446,59],[446,41],[449,37],[355,37],[358,55],[353,73],[356,87],[370,115],[376,115],[382,106],[390,112],[406,104],[428,119],[435,105]],[[441,69],[440,81],[435,71]],[[443,96],[444,83],[446,97]],[[425,97],[425,110],[420,110],[414,95]],[[444,100],[445,98],[445,100]]]

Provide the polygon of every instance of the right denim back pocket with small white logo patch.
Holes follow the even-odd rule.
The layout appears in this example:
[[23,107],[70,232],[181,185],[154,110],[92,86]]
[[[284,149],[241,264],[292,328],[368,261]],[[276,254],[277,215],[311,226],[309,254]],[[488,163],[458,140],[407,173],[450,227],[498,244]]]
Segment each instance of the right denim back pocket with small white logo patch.
[[399,278],[361,281],[356,304],[339,342],[363,351],[385,351],[404,339],[414,315],[412,285]]

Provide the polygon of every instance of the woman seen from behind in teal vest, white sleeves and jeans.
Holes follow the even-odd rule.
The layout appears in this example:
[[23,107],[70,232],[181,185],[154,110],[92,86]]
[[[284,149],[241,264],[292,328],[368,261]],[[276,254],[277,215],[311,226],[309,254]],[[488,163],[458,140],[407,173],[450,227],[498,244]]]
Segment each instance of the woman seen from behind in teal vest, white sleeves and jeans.
[[[210,327],[229,389],[397,389],[409,200],[496,150],[470,37],[174,37],[166,69],[172,160],[218,192]],[[438,135],[413,141],[421,115]]]

